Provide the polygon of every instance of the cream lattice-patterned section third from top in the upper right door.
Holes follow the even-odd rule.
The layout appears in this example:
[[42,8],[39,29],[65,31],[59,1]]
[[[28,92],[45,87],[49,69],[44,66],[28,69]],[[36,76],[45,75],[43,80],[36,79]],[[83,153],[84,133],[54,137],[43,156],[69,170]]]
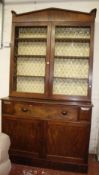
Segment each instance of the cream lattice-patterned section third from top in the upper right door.
[[87,59],[55,59],[54,76],[88,78]]

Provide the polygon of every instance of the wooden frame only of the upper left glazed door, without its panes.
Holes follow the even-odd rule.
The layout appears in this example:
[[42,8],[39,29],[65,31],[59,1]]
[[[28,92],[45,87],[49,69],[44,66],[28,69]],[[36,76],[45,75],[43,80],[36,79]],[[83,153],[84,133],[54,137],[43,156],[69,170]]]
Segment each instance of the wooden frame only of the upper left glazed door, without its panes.
[[[16,84],[14,83],[14,67],[15,67],[15,29],[19,27],[47,27],[46,36],[46,54],[45,54],[45,76],[44,76],[44,93],[33,93],[33,92],[17,92]],[[11,70],[10,70],[10,96],[16,97],[34,97],[34,98],[48,98],[49,96],[49,59],[50,59],[50,36],[51,25],[48,22],[33,22],[33,23],[13,23],[12,28],[12,44],[11,44]],[[15,81],[16,82],[16,81]],[[17,83],[17,82],[16,82]],[[15,90],[14,90],[15,89]]]

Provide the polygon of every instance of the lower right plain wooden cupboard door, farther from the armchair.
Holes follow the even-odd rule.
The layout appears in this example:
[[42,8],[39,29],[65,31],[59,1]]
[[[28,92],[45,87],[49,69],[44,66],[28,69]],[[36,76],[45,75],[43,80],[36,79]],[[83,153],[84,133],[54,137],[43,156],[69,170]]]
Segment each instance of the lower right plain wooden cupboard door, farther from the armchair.
[[47,159],[56,162],[85,163],[90,125],[48,121]]

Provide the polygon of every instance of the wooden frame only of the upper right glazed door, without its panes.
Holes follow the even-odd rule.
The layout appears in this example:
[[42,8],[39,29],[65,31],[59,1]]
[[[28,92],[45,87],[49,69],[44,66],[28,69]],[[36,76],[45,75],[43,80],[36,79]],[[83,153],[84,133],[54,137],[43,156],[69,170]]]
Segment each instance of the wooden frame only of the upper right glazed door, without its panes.
[[[88,27],[90,30],[90,39],[89,39],[89,58],[88,59],[88,85],[87,85],[87,95],[65,95],[65,94],[53,94],[53,80],[54,80],[54,55],[55,55],[55,28],[57,26],[63,27]],[[91,87],[92,87],[92,67],[93,67],[93,52],[92,52],[92,46],[93,46],[93,33],[94,33],[94,28],[92,23],[86,23],[86,22],[55,22],[52,23],[52,38],[51,38],[51,63],[50,63],[50,97],[51,99],[62,99],[62,100],[73,100],[73,101],[89,101],[91,100]]]

